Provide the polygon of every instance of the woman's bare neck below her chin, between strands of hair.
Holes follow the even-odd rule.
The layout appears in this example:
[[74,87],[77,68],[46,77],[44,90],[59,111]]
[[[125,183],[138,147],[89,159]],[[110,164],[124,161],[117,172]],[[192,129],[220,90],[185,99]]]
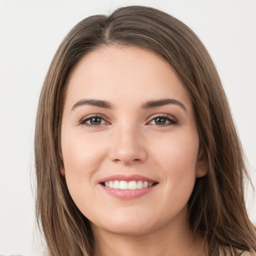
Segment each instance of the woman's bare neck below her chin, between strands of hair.
[[[184,222],[183,222],[184,223]],[[95,227],[94,256],[206,256],[203,238],[185,224],[170,222],[142,234],[117,234]]]

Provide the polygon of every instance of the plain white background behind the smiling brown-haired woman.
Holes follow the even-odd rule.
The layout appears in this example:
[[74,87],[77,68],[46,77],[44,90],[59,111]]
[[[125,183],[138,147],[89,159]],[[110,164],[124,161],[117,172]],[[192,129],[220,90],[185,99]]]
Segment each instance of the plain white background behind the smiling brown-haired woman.
[[[33,133],[40,88],[55,50],[82,18],[131,4],[172,14],[206,45],[256,185],[256,0],[0,0],[0,253],[35,255],[39,248]],[[252,190],[247,194],[256,223]]]

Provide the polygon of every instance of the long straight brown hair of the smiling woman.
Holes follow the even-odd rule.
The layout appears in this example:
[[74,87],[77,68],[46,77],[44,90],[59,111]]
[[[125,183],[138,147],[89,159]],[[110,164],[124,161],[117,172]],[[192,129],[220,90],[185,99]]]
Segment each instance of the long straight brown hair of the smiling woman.
[[[219,248],[256,250],[256,235],[245,209],[242,148],[215,66],[198,37],[184,23],[144,6],[116,9],[80,21],[60,44],[41,90],[35,129],[37,175],[36,214],[52,256],[92,255],[88,219],[71,199],[60,148],[61,111],[68,75],[75,64],[97,47],[120,44],[153,50],[163,56],[183,80],[193,103],[200,146],[208,173],[197,178],[188,201],[189,225],[209,243],[209,255]],[[238,255],[238,254],[237,254]]]

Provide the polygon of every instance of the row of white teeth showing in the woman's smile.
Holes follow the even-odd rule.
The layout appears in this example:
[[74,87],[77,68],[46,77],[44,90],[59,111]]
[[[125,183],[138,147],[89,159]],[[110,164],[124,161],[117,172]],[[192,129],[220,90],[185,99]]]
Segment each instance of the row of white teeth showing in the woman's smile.
[[142,180],[109,180],[104,182],[106,187],[114,188],[114,189],[141,189],[146,188],[153,185],[153,182],[142,181]]

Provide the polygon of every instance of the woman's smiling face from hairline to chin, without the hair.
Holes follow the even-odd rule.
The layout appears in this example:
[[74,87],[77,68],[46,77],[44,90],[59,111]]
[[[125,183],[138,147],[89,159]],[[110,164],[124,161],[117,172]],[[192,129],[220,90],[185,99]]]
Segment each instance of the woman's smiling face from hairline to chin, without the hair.
[[61,173],[94,230],[187,223],[205,164],[191,100],[166,60],[137,47],[88,53],[70,75],[61,125]]

